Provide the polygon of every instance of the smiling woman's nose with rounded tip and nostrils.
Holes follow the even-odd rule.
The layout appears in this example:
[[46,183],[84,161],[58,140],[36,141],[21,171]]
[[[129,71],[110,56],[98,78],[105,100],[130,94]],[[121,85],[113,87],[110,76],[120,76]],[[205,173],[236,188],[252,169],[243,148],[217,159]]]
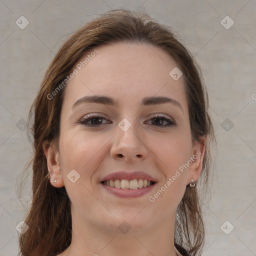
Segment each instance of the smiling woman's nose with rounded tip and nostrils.
[[145,135],[142,130],[131,125],[127,130],[116,127],[116,135],[113,137],[110,155],[118,160],[126,162],[135,162],[143,160],[148,155]]

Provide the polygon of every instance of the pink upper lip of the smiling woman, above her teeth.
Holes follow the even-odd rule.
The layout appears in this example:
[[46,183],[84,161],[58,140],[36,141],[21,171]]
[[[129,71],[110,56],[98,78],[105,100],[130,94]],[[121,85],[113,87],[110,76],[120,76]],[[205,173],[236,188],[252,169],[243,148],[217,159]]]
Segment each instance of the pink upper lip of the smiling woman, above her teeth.
[[127,172],[124,170],[116,171],[113,173],[110,173],[103,178],[100,179],[99,182],[102,182],[104,180],[110,180],[110,179],[147,179],[153,182],[157,182],[157,180],[153,177],[151,177],[149,174],[144,173],[142,171],[132,171],[132,172]]

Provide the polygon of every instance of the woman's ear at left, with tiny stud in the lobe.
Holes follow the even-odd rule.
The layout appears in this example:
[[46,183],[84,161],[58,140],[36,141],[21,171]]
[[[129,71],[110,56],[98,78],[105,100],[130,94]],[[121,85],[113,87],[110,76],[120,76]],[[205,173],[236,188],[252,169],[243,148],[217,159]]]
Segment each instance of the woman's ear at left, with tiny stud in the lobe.
[[[55,144],[56,143],[54,142],[44,141],[42,143],[42,147],[47,160],[50,183],[52,184],[52,186],[61,187],[64,186],[64,182],[60,167],[60,155]],[[54,182],[55,179],[56,182]]]

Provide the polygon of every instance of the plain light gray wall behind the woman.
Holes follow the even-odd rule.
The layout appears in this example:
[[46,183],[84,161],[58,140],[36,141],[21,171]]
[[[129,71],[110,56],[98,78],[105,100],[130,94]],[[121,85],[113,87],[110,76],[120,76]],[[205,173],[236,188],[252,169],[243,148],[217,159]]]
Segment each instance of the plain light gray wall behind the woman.
[[69,33],[117,7],[172,25],[202,67],[218,147],[203,256],[256,255],[255,0],[0,0],[0,255],[17,255],[15,226],[30,203],[31,176],[24,206],[16,180],[31,154],[25,120],[45,69]]

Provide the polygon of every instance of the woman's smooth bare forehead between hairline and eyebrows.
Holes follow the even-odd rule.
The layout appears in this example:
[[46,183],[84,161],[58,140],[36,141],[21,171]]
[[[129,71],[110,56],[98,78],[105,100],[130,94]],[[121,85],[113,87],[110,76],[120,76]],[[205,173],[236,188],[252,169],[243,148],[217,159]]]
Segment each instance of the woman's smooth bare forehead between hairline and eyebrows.
[[153,95],[185,100],[183,77],[178,80],[170,77],[169,72],[176,63],[159,47],[117,42],[96,49],[96,54],[90,54],[96,52],[91,49],[75,64],[77,74],[65,88],[64,102],[71,104],[93,94],[111,96],[118,102],[133,102],[137,97]]

